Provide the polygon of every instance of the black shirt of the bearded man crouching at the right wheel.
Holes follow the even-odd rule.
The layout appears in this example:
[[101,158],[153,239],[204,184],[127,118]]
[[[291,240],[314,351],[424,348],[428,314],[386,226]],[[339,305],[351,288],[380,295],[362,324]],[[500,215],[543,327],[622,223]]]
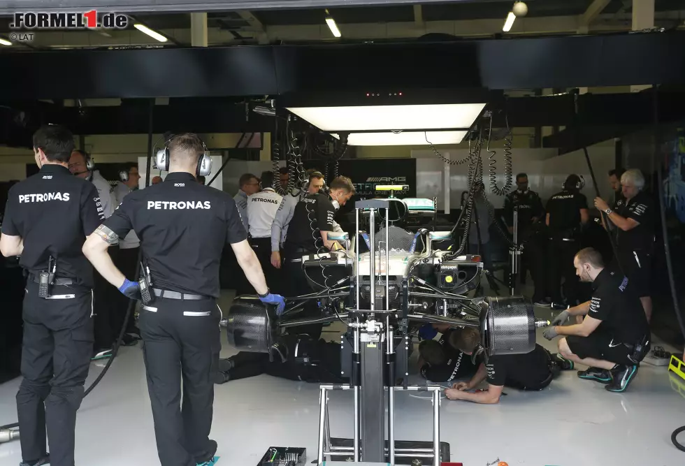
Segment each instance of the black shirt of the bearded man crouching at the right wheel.
[[628,286],[628,279],[606,268],[592,284],[588,315],[602,321],[595,331],[610,335],[616,342],[633,344],[649,333],[640,298]]

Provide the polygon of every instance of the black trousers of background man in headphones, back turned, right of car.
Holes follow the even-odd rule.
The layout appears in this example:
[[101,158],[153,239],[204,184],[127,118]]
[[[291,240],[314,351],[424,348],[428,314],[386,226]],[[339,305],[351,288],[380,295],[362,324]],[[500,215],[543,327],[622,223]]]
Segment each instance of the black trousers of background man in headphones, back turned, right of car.
[[547,289],[553,303],[562,303],[561,279],[563,278],[563,298],[566,304],[576,305],[578,299],[578,277],[575,275],[573,258],[579,251],[578,242],[561,238],[549,240],[549,288]]

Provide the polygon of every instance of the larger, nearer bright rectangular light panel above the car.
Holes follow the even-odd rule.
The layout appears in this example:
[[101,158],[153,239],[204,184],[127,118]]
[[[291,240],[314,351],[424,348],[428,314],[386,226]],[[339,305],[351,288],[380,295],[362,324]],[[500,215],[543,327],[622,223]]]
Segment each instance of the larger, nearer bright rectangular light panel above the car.
[[323,131],[470,128],[484,103],[288,108]]

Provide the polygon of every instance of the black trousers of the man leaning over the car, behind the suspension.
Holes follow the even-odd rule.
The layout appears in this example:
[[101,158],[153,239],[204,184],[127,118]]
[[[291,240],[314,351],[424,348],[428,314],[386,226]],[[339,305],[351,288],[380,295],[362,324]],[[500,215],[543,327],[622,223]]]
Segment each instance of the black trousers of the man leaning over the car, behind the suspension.
[[[303,252],[301,254],[306,253]],[[312,287],[310,286],[307,280],[307,275],[309,275],[309,277],[315,280],[317,284],[320,284],[322,286],[324,285],[324,276],[320,268],[308,268],[307,275],[305,275],[305,270],[302,268],[302,263],[293,262],[293,259],[301,259],[301,257],[301,255],[297,254],[286,254],[285,259],[283,261],[283,273],[286,277],[287,284],[287,290],[284,293],[287,298],[310,294],[315,291],[315,289],[312,289]],[[331,280],[329,280],[329,284],[332,284]],[[319,306],[317,305],[316,300],[308,300],[303,307],[303,311],[297,314],[298,319],[317,319],[321,316],[322,314],[319,310]],[[319,337],[321,337],[321,332],[323,328],[323,323],[312,323],[308,325],[293,327],[288,330],[288,333],[306,333],[314,340],[318,340]]]

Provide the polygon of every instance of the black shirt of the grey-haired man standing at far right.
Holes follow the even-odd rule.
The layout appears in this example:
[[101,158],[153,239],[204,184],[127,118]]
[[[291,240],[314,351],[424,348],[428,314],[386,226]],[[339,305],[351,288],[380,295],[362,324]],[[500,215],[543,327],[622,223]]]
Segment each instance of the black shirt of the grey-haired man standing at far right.
[[654,247],[654,203],[651,198],[644,193],[637,193],[637,196],[630,199],[621,199],[616,203],[616,214],[626,219],[634,219],[640,225],[632,230],[623,231],[616,228],[616,242],[619,249],[640,250],[652,249]]

